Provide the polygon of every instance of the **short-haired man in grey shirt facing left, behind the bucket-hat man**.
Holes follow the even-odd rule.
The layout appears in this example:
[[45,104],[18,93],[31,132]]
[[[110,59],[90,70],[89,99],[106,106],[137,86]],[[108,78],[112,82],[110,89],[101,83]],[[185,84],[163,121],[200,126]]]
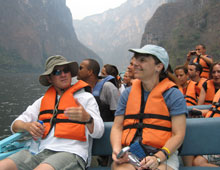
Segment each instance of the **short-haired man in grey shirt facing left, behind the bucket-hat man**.
[[99,72],[100,66],[96,60],[85,59],[80,64],[77,79],[87,82],[92,87],[92,94],[99,105],[103,121],[114,121],[120,92],[116,87],[115,77],[107,76],[99,79]]

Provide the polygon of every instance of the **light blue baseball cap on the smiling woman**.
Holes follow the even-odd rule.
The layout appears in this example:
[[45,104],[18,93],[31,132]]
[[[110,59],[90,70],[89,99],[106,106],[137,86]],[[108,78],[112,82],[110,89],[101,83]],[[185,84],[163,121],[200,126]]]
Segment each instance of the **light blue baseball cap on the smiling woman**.
[[143,46],[142,48],[131,48],[129,51],[139,54],[150,54],[157,57],[164,65],[164,70],[166,71],[169,65],[169,55],[167,51],[160,46],[148,44]]

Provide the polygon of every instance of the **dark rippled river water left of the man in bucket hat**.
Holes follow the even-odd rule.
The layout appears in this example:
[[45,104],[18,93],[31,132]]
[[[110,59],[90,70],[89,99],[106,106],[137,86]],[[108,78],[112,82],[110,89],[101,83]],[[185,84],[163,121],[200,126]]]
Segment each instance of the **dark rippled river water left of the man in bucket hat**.
[[47,87],[40,85],[38,77],[30,73],[0,75],[0,139],[11,135],[12,121],[45,93]]

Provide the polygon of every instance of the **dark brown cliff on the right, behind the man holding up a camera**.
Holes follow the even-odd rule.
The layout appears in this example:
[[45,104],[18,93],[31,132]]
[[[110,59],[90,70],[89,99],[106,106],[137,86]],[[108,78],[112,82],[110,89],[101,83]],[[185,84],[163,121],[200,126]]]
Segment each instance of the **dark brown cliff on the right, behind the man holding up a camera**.
[[186,54],[199,43],[207,53],[220,56],[220,1],[178,0],[162,5],[146,24],[141,46],[158,44],[165,47],[173,66],[183,64]]

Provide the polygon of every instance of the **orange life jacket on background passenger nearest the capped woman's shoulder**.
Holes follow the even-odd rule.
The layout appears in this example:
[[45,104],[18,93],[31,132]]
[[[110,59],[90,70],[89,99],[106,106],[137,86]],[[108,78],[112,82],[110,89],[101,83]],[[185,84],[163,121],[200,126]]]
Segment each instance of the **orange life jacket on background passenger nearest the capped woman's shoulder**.
[[187,106],[197,105],[196,82],[190,80],[184,95]]

